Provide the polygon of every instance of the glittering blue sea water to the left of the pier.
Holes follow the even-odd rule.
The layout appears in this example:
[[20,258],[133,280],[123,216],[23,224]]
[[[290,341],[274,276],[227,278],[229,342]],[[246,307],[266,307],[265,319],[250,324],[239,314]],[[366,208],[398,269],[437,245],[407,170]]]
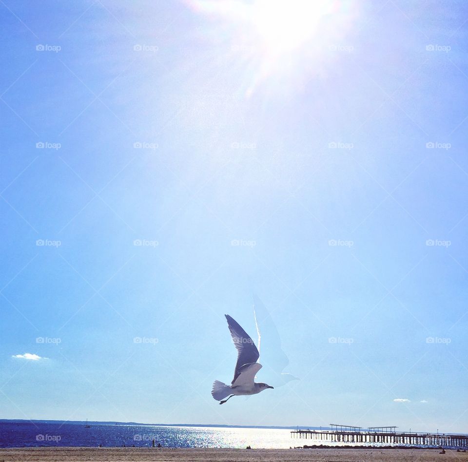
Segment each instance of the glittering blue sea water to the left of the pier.
[[289,448],[290,430],[135,424],[0,422],[0,447],[152,446]]

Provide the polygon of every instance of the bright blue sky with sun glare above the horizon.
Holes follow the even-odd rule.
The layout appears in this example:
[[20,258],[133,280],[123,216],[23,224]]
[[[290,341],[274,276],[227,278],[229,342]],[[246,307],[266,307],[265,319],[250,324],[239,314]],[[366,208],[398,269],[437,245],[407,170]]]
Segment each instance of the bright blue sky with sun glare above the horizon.
[[1,418],[466,432],[468,10],[307,3],[0,2]]

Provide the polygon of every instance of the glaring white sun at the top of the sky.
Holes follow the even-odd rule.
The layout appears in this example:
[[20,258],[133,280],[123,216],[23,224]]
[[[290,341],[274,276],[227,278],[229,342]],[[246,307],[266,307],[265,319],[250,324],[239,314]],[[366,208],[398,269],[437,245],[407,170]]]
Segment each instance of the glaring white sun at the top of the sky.
[[231,47],[233,63],[245,70],[238,85],[252,96],[260,87],[296,91],[311,70],[323,75],[333,47],[346,44],[360,0],[186,1],[211,20],[206,36]]

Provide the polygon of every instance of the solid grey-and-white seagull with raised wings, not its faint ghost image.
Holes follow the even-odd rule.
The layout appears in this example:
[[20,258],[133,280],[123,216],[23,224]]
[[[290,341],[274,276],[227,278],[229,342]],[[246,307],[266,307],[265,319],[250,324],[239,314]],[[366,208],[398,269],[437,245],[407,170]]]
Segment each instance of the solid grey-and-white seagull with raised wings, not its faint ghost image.
[[[234,345],[237,348],[237,363],[231,385],[223,384],[219,380],[215,380],[213,384],[211,394],[216,401],[219,401],[219,404],[226,403],[233,396],[255,395],[267,388],[273,388],[267,384],[254,383],[255,374],[262,368],[262,365],[257,363],[259,357],[257,347],[246,331],[231,316],[228,314],[225,316]],[[231,396],[225,400],[224,398],[228,395]]]

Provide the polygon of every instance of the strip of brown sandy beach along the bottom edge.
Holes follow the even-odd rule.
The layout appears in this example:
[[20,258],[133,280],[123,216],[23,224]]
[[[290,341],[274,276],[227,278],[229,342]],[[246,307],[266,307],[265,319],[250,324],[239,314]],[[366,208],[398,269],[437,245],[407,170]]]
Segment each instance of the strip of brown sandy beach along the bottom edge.
[[468,461],[468,453],[438,449],[201,449],[201,448],[11,448],[0,449],[0,462],[35,461],[192,461],[192,462],[361,462]]

